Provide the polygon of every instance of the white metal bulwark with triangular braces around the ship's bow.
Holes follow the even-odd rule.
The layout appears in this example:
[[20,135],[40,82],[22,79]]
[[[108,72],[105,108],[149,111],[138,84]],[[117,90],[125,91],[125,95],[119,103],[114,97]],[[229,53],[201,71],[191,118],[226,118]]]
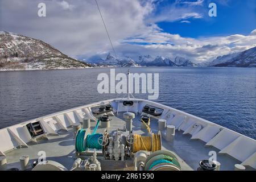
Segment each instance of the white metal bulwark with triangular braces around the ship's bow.
[[[96,118],[93,116],[90,107],[110,103],[115,112],[127,111],[127,107],[123,106],[123,101],[125,100],[127,100],[127,98],[100,101],[0,129],[0,138],[4,138],[4,140],[1,140],[0,151],[3,154],[3,152],[10,151],[15,147],[27,147],[26,143],[31,141],[31,136],[26,133],[26,128],[24,127],[27,123],[32,123],[36,120],[40,121],[47,135],[57,135],[57,132],[60,129],[67,129],[68,127],[71,127],[72,123],[80,123],[83,115],[95,120]],[[141,112],[143,106],[146,104],[160,107],[164,109],[160,118],[166,119],[167,125],[174,125],[176,129],[184,131],[184,134],[190,134],[191,139],[204,141],[206,146],[214,146],[218,148],[220,154],[228,154],[233,158],[240,160],[244,166],[256,167],[256,141],[254,139],[226,129],[205,119],[196,117],[195,115],[153,101],[134,98],[130,98],[130,101],[134,101],[134,105],[129,106],[130,112]],[[159,119],[159,117],[155,118]],[[193,129],[193,126],[195,125],[199,125],[200,129]]]

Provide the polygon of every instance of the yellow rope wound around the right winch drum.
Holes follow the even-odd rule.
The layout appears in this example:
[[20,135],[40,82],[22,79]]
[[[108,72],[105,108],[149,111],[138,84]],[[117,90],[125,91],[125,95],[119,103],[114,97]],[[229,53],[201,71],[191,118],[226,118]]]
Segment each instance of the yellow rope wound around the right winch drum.
[[144,137],[138,134],[134,134],[133,136],[133,152],[138,152],[140,150],[151,152],[161,150],[160,135],[153,133],[150,137]]

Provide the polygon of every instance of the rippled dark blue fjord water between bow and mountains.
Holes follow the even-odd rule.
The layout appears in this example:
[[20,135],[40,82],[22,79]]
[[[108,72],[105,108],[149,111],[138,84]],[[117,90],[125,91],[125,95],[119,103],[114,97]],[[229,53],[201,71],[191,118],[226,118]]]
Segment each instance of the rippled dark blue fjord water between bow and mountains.
[[[128,68],[116,68],[126,73]],[[207,119],[256,139],[256,69],[130,68],[159,73],[161,104]],[[110,68],[0,72],[0,128],[72,107],[125,97],[99,94],[99,73]],[[134,94],[146,98],[146,94]]]

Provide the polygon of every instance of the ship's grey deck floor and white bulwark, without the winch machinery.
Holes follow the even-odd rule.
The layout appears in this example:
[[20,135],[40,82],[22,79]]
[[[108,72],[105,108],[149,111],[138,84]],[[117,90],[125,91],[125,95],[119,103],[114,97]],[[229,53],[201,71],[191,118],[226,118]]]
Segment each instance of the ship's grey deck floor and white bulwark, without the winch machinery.
[[[139,134],[146,133],[146,131],[141,130],[141,123],[138,121],[143,106],[150,104],[164,109],[160,118],[166,119],[168,125],[175,125],[176,129],[180,131],[176,130],[172,142],[167,142],[164,139],[163,132],[162,149],[175,152],[182,170],[196,170],[199,167],[200,160],[209,159],[209,151],[216,151],[217,161],[221,163],[221,170],[233,170],[234,164],[243,164],[246,169],[256,168],[256,141],[254,139],[156,102],[131,99],[134,101],[134,105],[127,107],[123,106],[123,100],[127,99],[97,102],[1,129],[0,137],[3,140],[1,141],[0,151],[2,155],[6,155],[8,168],[19,168],[19,157],[22,155],[29,155],[32,161],[38,159],[39,151],[46,151],[47,160],[55,160],[70,169],[75,160],[75,140],[70,126],[72,123],[82,122],[85,115],[93,119],[94,116],[90,107],[108,103],[112,104],[115,111],[115,116],[110,123],[110,130],[122,129],[125,123],[122,120],[122,113],[132,111],[138,113],[137,118],[133,120],[133,130]],[[29,142],[31,137],[24,132],[23,126],[36,120],[43,124],[48,140],[31,144]],[[158,117],[151,119],[150,127],[154,133],[158,131],[157,120]],[[195,124],[200,125],[199,129],[193,129]],[[94,125],[95,122],[92,122],[92,127]],[[222,130],[220,131],[220,129]],[[97,132],[101,133],[103,130],[99,128]],[[19,146],[22,146],[22,148],[14,149]],[[129,161],[127,163],[130,165]],[[129,168],[129,165],[126,164],[128,166],[128,168],[125,168],[126,170],[132,169],[132,166],[130,165]],[[109,168],[102,163],[102,169]],[[123,168],[113,167],[111,169]]]

